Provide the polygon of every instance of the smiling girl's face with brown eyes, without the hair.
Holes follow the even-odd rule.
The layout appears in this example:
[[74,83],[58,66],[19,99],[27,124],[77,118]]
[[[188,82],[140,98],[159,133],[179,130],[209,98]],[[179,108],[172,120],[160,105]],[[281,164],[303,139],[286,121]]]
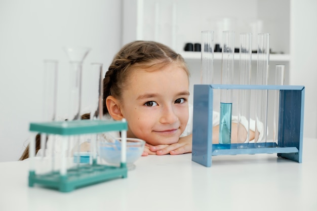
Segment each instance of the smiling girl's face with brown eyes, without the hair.
[[177,143],[189,115],[186,71],[173,63],[159,70],[132,70],[129,80],[120,107],[128,137],[152,145]]

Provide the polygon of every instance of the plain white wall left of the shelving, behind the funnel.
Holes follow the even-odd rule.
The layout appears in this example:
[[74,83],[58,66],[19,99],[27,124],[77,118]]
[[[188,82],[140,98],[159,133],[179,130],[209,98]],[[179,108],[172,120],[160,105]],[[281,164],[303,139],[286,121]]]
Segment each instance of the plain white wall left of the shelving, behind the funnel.
[[57,114],[67,112],[68,59],[62,47],[92,48],[83,67],[83,107],[89,65],[104,72],[121,47],[121,1],[0,1],[0,161],[17,160],[30,121],[41,120],[43,60],[59,60]]

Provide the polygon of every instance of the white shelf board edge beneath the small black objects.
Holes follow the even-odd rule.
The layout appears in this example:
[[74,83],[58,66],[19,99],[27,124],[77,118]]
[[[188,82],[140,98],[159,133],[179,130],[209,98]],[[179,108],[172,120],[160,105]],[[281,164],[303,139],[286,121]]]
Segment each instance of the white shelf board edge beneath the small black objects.
[[[183,51],[180,53],[185,60],[201,60],[201,52],[186,52]],[[214,60],[221,60],[221,53],[214,53]],[[239,60],[239,53],[234,54],[234,60]],[[252,54],[252,61],[257,60],[257,54]],[[290,55],[289,54],[270,54],[270,61],[281,61],[281,62],[289,62]]]

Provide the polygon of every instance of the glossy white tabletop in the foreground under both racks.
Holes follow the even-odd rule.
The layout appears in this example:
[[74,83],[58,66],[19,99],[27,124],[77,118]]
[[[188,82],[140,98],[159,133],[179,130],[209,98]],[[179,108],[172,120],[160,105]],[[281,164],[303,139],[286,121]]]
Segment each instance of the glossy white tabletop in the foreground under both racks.
[[28,161],[0,163],[0,210],[317,210],[316,139],[304,139],[303,162],[276,154],[191,154],[137,160],[128,178],[69,193],[28,187]]

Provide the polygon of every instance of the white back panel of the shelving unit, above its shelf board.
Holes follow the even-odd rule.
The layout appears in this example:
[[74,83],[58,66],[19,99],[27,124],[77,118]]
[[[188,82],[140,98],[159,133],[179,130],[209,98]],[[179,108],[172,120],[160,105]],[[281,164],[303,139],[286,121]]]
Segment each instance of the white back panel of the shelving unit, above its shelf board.
[[[131,1],[138,4],[137,23],[134,18],[128,21],[130,27],[134,24],[140,28],[137,35],[160,41],[178,52],[185,43],[200,43],[203,30],[213,30],[218,44],[223,30],[233,30],[236,47],[239,33],[252,32],[255,37],[259,32],[269,32],[271,50],[289,53],[289,0],[127,0],[125,4]],[[130,36],[136,35],[130,32]],[[256,41],[253,39],[253,50]]]

